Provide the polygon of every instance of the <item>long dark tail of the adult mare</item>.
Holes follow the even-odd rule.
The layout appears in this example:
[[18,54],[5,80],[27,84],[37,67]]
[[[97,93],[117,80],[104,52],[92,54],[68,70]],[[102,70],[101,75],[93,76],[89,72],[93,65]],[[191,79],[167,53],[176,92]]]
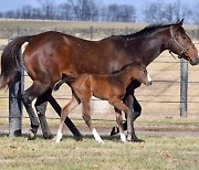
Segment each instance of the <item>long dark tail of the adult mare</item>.
[[20,49],[31,38],[31,35],[18,36],[4,47],[1,55],[0,89],[8,88],[13,83],[18,73],[18,64],[21,63]]

